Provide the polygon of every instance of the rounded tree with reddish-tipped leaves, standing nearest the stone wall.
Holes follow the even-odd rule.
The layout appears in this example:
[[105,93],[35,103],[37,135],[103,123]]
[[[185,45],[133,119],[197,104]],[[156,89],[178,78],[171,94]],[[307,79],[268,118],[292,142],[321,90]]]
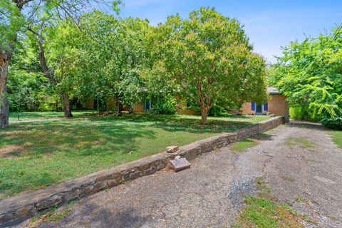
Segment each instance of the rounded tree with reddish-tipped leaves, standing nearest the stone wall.
[[[202,7],[188,19],[170,16],[152,34],[155,71],[176,83],[201,109],[202,124],[218,100],[241,105],[266,100],[264,59],[252,53],[249,38],[236,19]],[[153,77],[152,77],[153,78]]]

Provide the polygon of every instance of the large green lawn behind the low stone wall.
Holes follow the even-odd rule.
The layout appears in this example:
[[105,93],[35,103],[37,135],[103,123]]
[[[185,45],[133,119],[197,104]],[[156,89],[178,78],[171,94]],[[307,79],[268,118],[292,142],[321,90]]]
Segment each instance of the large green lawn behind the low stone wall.
[[13,123],[0,130],[0,199],[266,119],[209,118],[202,126],[197,116],[135,114]]

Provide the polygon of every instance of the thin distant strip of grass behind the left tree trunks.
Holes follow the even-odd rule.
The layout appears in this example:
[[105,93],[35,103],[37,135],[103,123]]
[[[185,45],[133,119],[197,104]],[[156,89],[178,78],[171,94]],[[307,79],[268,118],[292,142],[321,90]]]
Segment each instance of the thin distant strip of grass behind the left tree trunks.
[[[63,112],[23,112],[23,113],[17,113],[17,112],[11,112],[9,113],[9,121],[18,121],[18,114],[19,114],[19,120],[41,120],[41,119],[47,119],[47,118],[63,118],[64,113]],[[93,111],[73,111],[74,117],[80,117],[84,115],[92,115]]]

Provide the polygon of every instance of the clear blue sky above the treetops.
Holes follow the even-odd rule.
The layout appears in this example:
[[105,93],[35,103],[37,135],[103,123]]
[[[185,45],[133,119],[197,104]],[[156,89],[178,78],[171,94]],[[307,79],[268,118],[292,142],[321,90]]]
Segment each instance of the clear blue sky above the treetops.
[[281,46],[305,37],[329,33],[342,23],[342,0],[123,0],[120,16],[165,22],[167,16],[189,13],[201,6],[213,6],[224,16],[235,18],[254,45],[254,52],[269,63],[281,56]]

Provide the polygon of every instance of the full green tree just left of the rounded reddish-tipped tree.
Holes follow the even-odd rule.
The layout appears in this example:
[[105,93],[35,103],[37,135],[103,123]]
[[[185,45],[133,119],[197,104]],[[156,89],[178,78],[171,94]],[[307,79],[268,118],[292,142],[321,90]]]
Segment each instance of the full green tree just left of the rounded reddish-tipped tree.
[[[118,115],[122,106],[131,106],[141,98],[143,90],[140,71],[147,62],[145,33],[147,21],[117,19],[101,11],[81,16],[77,26],[58,26],[54,50],[63,49],[57,56],[69,56],[69,69],[73,69],[74,88],[83,100],[117,98]],[[67,78],[66,81],[70,81]]]

